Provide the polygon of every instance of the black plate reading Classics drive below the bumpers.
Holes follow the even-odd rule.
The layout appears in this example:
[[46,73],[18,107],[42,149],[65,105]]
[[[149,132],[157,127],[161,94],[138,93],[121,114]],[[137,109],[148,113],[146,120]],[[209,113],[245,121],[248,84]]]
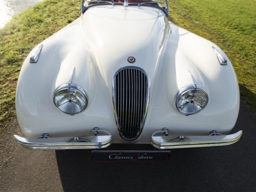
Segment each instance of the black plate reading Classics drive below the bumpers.
[[93,150],[92,161],[168,161],[170,151]]

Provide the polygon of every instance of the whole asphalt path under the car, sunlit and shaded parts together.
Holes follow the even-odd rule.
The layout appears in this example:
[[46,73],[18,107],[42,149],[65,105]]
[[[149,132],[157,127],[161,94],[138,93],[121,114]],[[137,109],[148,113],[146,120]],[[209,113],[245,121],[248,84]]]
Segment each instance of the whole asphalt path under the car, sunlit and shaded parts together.
[[26,150],[10,139],[19,131],[13,127],[0,154],[0,191],[256,191],[256,116],[243,103],[234,129],[244,131],[240,141],[175,149],[167,163],[93,163],[90,150]]

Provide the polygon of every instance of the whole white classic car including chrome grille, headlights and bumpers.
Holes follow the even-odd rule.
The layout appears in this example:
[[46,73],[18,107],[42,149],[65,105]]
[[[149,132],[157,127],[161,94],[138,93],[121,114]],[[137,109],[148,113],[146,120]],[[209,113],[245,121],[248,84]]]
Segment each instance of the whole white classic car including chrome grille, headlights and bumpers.
[[[179,28],[150,0],[82,1],[81,17],[24,61],[21,147],[158,149],[230,145],[239,86],[220,47]],[[157,150],[159,151],[159,150]]]

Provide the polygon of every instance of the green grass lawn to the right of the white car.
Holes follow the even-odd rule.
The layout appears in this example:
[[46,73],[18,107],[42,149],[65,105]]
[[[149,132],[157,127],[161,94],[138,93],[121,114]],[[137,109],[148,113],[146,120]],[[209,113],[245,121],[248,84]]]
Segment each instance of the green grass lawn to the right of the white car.
[[169,8],[176,24],[225,51],[242,99],[256,113],[256,0],[169,0]]

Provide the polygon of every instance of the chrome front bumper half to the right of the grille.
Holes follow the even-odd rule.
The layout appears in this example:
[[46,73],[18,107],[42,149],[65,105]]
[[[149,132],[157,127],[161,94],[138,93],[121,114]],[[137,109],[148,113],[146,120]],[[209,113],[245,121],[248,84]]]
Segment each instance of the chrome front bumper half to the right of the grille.
[[236,143],[242,134],[243,131],[215,136],[152,136],[150,143],[159,149],[215,147]]

